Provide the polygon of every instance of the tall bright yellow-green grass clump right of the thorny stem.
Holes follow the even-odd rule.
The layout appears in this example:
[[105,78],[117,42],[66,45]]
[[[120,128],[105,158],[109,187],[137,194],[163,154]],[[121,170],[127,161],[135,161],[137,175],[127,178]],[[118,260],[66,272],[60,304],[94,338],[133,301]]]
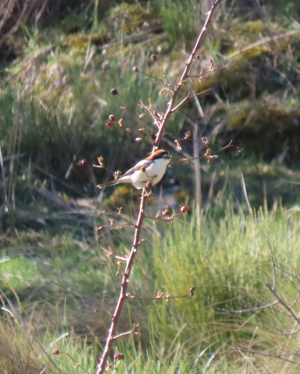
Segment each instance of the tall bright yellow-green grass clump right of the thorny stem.
[[[160,312],[154,314],[154,331],[161,330],[159,336],[172,341],[180,326],[187,323],[189,327],[182,336],[198,346],[208,341],[217,346],[222,340],[226,344],[229,336],[238,342],[251,334],[253,326],[258,324],[257,319],[251,318],[254,321],[246,325],[243,318],[224,321],[224,314],[214,310],[214,306],[226,310],[247,309],[272,299],[265,286],[265,283],[272,283],[273,277],[270,250],[263,235],[266,227],[276,263],[292,269],[292,263],[296,265],[300,261],[297,218],[288,228],[283,221],[282,214],[265,217],[258,212],[257,218],[252,220],[229,211],[219,222],[203,221],[200,229],[195,228],[193,221],[175,223],[160,243],[156,239],[157,288],[171,295],[183,294],[192,285],[198,291],[192,299],[161,303]],[[295,292],[293,288],[289,290],[288,285],[282,286],[287,287],[286,295]],[[211,329],[211,324],[219,325],[220,330]]]

